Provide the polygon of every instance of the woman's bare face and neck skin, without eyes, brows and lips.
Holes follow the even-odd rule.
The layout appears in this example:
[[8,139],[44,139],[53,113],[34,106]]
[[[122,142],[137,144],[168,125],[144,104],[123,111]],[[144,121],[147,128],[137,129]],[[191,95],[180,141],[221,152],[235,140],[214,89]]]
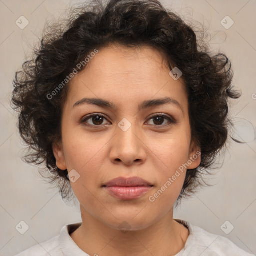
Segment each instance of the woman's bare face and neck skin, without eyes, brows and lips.
[[[100,49],[68,85],[62,140],[53,151],[60,169],[74,169],[80,175],[71,186],[80,202],[82,225],[71,238],[89,255],[175,255],[184,247],[189,231],[173,219],[173,205],[186,171],[200,164],[200,156],[154,202],[149,201],[200,150],[191,140],[184,83],[181,78],[174,80],[169,71],[161,53],[152,47],[111,45]],[[174,104],[138,110],[142,101],[166,96],[177,100],[183,112]],[[87,103],[73,107],[84,97],[103,98],[117,109]],[[81,119],[90,113],[106,119],[90,118],[86,126]],[[160,113],[177,122],[151,118]],[[123,118],[131,124],[126,131],[118,126]],[[102,187],[120,176],[139,176],[153,187],[137,199],[120,200]],[[128,232],[118,227],[123,221]]]

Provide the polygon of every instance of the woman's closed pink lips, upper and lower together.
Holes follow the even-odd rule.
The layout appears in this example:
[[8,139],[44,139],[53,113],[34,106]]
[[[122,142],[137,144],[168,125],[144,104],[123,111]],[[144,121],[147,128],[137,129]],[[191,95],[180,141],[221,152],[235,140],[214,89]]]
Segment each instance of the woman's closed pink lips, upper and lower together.
[[118,177],[111,179],[102,187],[122,200],[133,200],[147,193],[153,185],[140,177]]

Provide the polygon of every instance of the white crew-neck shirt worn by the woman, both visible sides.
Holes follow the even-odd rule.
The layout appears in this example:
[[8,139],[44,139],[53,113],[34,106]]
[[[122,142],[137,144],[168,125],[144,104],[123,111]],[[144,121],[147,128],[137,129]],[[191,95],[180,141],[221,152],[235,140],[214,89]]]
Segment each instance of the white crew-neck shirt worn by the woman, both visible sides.
[[[175,256],[253,256],[223,236],[209,233],[187,221],[175,220],[189,230],[185,246]],[[65,225],[61,228],[59,235],[41,244],[36,244],[15,256],[89,256],[77,246],[70,236],[80,225],[81,223]]]

